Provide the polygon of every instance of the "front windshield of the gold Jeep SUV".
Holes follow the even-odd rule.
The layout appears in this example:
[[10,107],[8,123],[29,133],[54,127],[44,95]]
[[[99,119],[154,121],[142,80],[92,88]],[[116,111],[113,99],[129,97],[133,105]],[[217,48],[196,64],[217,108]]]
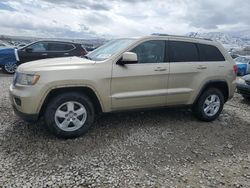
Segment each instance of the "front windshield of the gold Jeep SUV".
[[127,48],[133,42],[134,39],[111,40],[108,43],[97,48],[96,50],[90,52],[86,56],[86,58],[94,61],[103,61],[116,54],[117,52],[120,52],[121,50]]

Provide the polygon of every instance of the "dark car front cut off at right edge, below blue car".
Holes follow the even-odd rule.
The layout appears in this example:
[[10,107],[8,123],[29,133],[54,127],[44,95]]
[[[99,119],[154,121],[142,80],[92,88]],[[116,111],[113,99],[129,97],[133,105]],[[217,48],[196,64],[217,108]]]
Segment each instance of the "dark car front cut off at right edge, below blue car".
[[237,81],[237,91],[245,99],[250,100],[250,75],[243,76]]

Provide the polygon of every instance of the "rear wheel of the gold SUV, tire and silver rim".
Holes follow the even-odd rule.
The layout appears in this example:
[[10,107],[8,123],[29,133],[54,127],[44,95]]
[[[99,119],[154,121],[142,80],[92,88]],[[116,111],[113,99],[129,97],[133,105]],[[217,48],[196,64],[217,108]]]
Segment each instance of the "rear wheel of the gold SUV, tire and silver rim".
[[213,121],[224,106],[224,96],[219,89],[210,88],[202,93],[194,105],[194,115],[202,121]]

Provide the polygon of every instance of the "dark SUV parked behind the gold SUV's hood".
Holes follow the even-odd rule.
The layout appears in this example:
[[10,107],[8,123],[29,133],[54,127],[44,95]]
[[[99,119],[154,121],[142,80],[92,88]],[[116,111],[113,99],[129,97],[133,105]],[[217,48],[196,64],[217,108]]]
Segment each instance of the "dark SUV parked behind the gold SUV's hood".
[[63,41],[37,41],[18,49],[18,65],[46,58],[84,56],[87,51],[81,44]]

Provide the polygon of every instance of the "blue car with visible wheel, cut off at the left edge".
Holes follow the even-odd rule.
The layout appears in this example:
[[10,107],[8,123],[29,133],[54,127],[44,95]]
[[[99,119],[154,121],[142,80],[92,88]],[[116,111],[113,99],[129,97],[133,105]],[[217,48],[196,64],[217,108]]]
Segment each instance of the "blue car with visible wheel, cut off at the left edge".
[[0,49],[0,67],[8,74],[14,74],[17,68],[17,50],[14,48]]

